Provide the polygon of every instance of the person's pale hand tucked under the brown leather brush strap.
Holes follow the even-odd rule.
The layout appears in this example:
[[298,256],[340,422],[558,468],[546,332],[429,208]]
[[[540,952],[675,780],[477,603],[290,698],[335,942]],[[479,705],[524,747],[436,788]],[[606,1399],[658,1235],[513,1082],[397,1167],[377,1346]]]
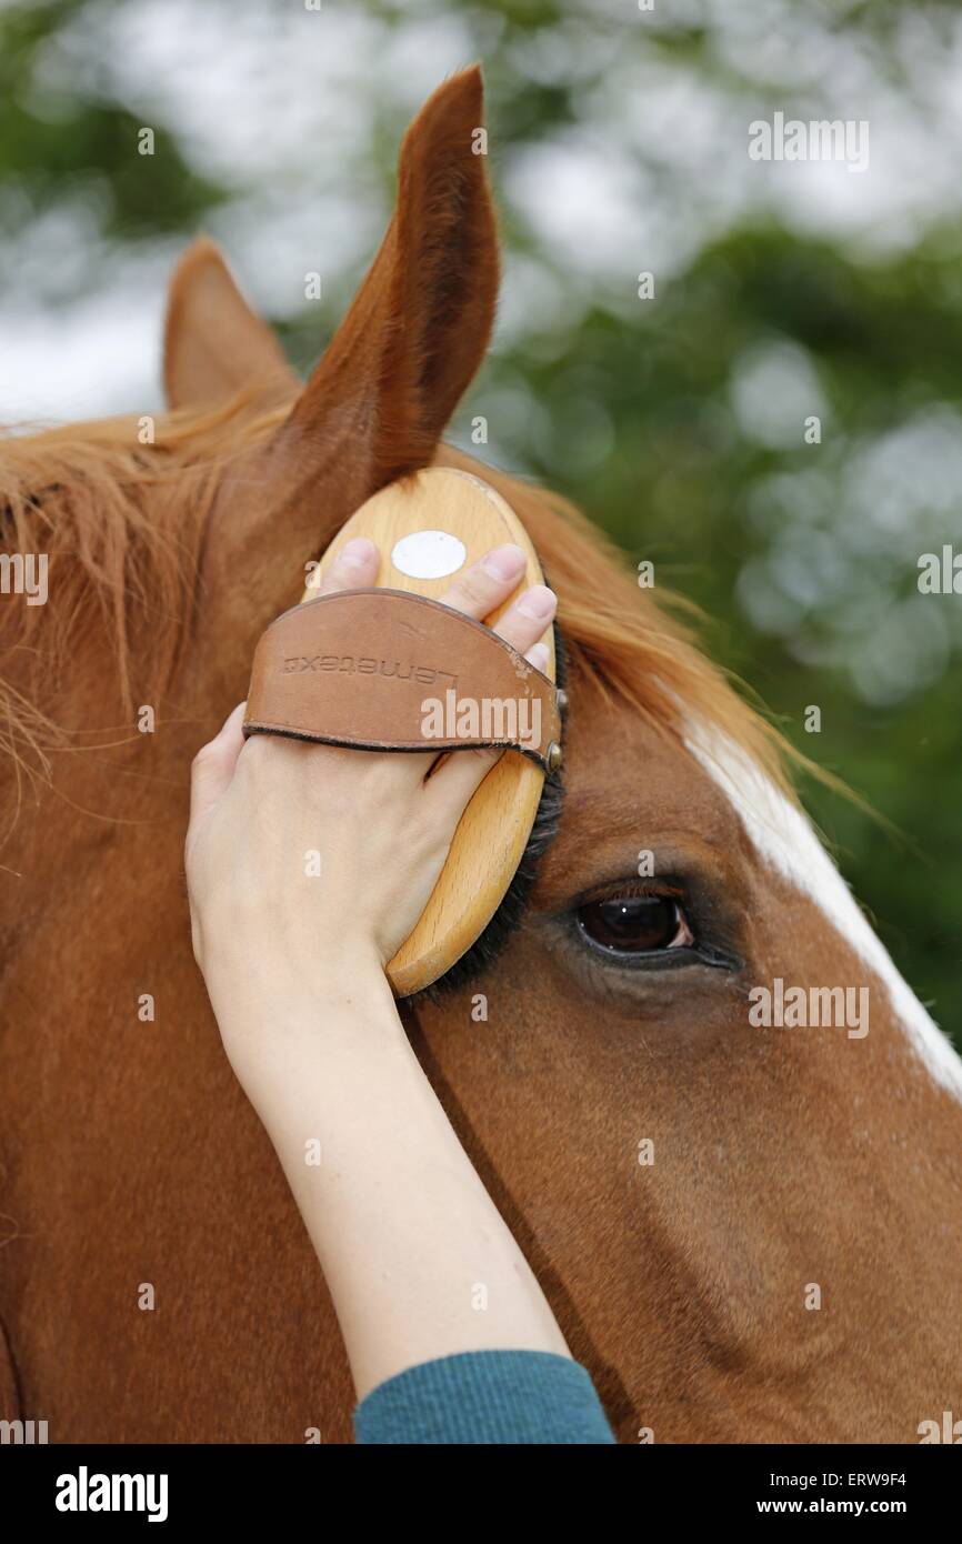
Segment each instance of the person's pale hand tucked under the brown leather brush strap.
[[[360,537],[338,554],[321,593],[374,584],[377,548]],[[525,557],[500,547],[442,596],[482,619],[514,590]],[[536,585],[496,631],[537,669],[556,610]],[[364,752],[273,735],[244,741],[239,704],[193,764],[185,843],[193,946],[215,985],[289,973],[323,979],[352,962],[380,970],[414,929],[469,798],[499,760],[462,750],[431,775],[437,752]],[[216,1007],[216,1004],[215,1004]]]

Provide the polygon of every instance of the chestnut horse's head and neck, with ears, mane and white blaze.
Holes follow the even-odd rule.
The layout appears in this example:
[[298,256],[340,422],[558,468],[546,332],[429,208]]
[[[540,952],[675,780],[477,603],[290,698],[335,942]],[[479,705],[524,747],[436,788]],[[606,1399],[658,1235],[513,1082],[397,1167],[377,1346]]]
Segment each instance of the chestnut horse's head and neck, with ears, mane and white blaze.
[[[415,119],[306,386],[201,242],[171,411],[0,448],[8,545],[51,554],[48,605],[5,598],[0,633],[0,1315],[26,1413],[57,1441],[347,1434],[317,1265],[190,954],[187,763],[306,564],[435,462],[525,520],[570,712],[564,806],[514,909],[403,1005],[417,1053],[624,1441],[914,1441],[957,1402],[962,1062],[788,749],[659,591],[442,443],[496,306],[480,122],[477,71]],[[137,1314],[142,1280],[164,1312]]]

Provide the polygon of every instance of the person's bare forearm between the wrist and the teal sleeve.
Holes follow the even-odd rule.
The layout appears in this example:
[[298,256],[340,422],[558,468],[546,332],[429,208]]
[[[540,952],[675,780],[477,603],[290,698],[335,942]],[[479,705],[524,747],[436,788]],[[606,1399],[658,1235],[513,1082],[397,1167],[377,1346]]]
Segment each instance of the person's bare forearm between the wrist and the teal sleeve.
[[258,1010],[247,994],[218,1016],[284,1017],[283,1028],[250,1022],[252,1044],[272,1045],[270,1065],[255,1079],[238,1072],[321,1260],[358,1399],[459,1351],[567,1354],[408,1044],[383,973],[366,968],[351,987],[327,974],[323,993],[303,988],[283,1008],[269,1001]]

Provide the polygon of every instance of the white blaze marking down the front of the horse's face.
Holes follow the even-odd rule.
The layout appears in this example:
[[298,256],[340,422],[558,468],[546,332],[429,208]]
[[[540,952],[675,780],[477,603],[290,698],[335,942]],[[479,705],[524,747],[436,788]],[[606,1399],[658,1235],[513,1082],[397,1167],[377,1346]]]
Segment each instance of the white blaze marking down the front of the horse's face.
[[733,804],[760,857],[809,896],[885,982],[913,1050],[962,1099],[962,1059],[893,965],[808,817],[730,740],[703,726],[692,726],[692,736],[689,750]]

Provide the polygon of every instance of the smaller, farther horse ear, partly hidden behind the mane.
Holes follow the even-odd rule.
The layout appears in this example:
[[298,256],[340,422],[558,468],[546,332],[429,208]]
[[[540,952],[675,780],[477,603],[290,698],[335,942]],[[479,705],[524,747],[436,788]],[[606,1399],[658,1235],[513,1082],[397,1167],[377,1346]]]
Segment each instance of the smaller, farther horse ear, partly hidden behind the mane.
[[187,249],[170,281],[164,384],[171,408],[227,401],[242,391],[269,406],[290,400],[300,384],[205,236]]

